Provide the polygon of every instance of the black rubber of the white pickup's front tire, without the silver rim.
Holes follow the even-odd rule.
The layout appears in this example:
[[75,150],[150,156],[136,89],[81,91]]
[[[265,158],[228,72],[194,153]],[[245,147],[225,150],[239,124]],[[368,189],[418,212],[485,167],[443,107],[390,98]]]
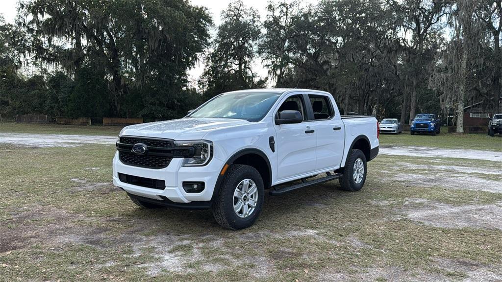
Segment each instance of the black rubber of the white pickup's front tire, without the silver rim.
[[[233,209],[233,194],[239,183],[244,179],[253,180],[258,188],[258,201],[255,210],[247,217],[237,216]],[[260,173],[251,166],[231,165],[223,177],[218,195],[214,201],[213,217],[224,228],[239,230],[247,228],[258,219],[262,211],[265,189]]]

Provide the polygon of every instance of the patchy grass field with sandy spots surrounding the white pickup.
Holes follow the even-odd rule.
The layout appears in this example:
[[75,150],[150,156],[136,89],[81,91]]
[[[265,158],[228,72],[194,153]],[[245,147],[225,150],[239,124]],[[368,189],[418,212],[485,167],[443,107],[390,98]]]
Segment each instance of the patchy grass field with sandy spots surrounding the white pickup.
[[[0,132],[120,129],[2,126]],[[500,140],[401,134],[381,141],[500,151]],[[0,146],[0,280],[502,279],[500,162],[380,155],[368,163],[361,191],[328,182],[266,195],[254,226],[229,231],[210,211],[135,206],[110,183],[113,145]]]

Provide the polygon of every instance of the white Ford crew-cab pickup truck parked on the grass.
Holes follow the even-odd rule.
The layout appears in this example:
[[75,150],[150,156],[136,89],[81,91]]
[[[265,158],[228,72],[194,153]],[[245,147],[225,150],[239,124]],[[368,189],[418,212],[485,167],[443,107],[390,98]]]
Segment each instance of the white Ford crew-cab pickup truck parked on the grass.
[[378,132],[373,116],[340,115],[327,92],[227,92],[184,118],[124,127],[113,184],[140,207],[211,208],[221,226],[242,229],[257,220],[265,190],[279,195],[334,179],[361,189]]

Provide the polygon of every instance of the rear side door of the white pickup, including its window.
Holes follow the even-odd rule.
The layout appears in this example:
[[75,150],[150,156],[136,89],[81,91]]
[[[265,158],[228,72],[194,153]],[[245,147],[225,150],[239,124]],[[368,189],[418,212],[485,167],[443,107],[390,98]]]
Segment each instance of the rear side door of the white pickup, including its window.
[[316,171],[337,169],[343,158],[345,126],[332,98],[322,94],[309,94],[313,118],[309,121],[317,133]]

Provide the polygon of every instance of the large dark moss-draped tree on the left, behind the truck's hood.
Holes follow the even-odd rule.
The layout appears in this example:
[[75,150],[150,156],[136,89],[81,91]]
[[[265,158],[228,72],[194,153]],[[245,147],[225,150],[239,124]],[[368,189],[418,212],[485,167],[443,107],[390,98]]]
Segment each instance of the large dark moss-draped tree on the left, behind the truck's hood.
[[36,59],[109,77],[114,115],[134,114],[126,103],[133,88],[154,90],[145,106],[160,111],[143,111],[152,118],[178,112],[187,70],[209,43],[207,11],[184,0],[35,0],[21,13]]

